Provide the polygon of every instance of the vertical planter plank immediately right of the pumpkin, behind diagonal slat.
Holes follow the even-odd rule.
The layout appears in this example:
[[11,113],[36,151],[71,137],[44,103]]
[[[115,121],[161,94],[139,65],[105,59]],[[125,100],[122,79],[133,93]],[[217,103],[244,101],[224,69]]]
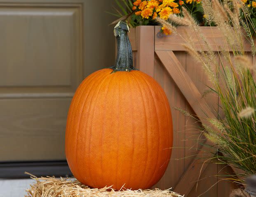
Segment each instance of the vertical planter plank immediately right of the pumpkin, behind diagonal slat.
[[[175,55],[185,67],[186,56],[183,55],[183,52],[176,52]],[[169,166],[162,179],[153,188],[169,189],[174,188],[184,172],[183,158],[185,156],[185,135],[183,131],[185,129],[185,117],[174,108],[185,108],[185,98],[176,86],[175,82],[169,77],[168,72],[166,69],[164,69],[164,66],[162,66],[157,57],[155,57],[154,78],[163,87],[171,106],[172,121],[174,126],[174,140]]]

